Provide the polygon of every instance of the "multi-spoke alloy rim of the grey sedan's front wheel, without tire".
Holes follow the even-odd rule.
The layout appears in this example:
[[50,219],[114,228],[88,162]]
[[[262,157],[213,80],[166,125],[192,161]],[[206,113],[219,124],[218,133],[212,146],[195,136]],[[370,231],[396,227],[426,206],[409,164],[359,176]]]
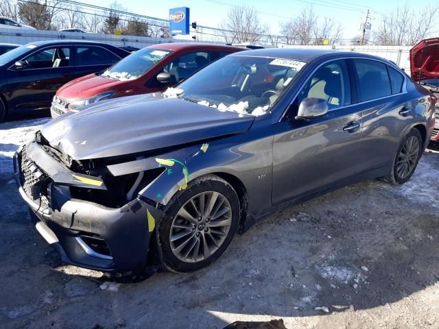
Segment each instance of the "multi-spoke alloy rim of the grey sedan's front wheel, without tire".
[[219,192],[206,191],[189,199],[171,224],[171,251],[185,263],[209,258],[226,240],[232,225],[232,208]]

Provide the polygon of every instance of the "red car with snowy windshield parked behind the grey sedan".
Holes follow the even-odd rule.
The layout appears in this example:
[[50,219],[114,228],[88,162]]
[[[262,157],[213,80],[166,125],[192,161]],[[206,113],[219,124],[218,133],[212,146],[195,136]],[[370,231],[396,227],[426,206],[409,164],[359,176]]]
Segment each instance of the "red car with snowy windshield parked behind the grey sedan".
[[145,47],[109,69],[65,84],[51,104],[51,116],[75,111],[104,99],[163,91],[229,53],[245,50],[226,45],[162,43]]

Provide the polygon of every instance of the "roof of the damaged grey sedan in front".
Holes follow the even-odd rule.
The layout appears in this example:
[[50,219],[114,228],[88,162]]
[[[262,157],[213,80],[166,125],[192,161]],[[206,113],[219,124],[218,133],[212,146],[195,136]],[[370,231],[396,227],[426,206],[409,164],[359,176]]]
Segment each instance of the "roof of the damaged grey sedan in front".
[[311,48],[265,48],[252,49],[234,53],[231,56],[255,56],[268,58],[285,58],[287,60],[299,60],[301,62],[312,62],[316,59],[330,59],[337,57],[362,57],[384,60],[384,58],[368,55],[366,53],[357,53],[354,51],[338,51],[333,49],[311,49]]

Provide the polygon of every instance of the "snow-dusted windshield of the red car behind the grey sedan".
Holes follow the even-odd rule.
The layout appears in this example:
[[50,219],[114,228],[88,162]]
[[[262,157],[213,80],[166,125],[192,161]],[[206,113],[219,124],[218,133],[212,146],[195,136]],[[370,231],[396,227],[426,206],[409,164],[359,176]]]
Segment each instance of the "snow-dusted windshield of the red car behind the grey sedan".
[[117,62],[110,69],[104,71],[101,76],[116,80],[137,79],[169,53],[171,51],[153,48],[141,49]]

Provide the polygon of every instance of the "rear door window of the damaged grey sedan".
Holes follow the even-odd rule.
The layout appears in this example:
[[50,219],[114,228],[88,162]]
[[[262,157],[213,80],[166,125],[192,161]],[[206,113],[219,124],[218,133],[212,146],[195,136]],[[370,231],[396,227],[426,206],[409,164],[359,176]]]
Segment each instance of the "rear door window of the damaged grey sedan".
[[354,59],[358,101],[370,101],[392,95],[386,65],[375,60]]

